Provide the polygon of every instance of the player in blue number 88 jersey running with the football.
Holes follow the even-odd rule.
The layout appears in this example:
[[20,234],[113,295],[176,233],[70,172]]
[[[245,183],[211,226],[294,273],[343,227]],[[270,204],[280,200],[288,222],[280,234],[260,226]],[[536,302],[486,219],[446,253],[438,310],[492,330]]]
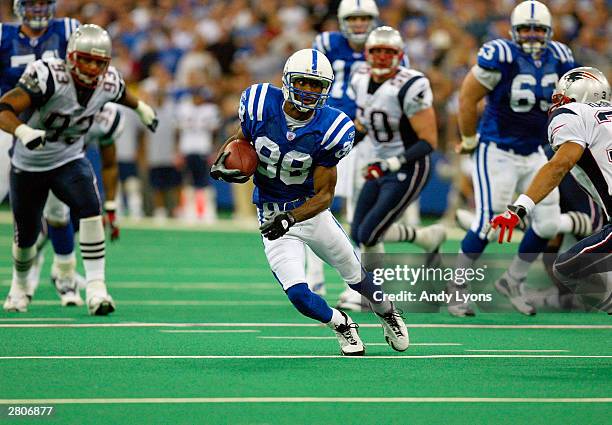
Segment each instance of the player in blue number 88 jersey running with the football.
[[[365,347],[357,325],[308,288],[305,248],[334,267],[344,281],[372,304],[385,338],[397,351],[408,348],[408,331],[389,301],[374,295],[371,274],[364,271],[350,239],[329,210],[336,186],[336,164],[353,146],[351,119],[326,106],[334,80],[331,64],[318,50],[299,50],[283,70],[282,90],[255,84],[242,93],[241,128],[233,139],[249,140],[259,157],[253,202],[268,263],[287,297],[303,315],[327,324],[342,354],[359,356]],[[223,150],[211,176],[241,183],[248,176],[224,165]],[[375,300],[376,298],[376,300]],[[384,298],[383,298],[384,299]]]

